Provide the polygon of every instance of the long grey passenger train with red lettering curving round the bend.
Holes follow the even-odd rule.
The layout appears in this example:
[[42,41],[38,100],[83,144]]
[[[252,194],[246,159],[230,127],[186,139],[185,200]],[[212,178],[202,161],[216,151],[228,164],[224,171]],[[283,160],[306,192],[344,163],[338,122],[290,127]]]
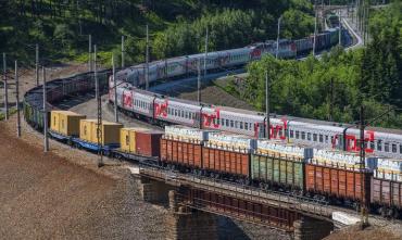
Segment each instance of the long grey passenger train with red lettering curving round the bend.
[[[296,41],[281,40],[279,55],[289,58],[311,50],[313,38]],[[317,35],[317,48],[328,48],[338,41],[338,29],[332,28]],[[259,60],[264,54],[276,51],[275,42],[264,42],[241,49],[208,53],[206,70],[236,67]],[[188,76],[203,66],[204,54],[194,54],[155,61],[149,65],[149,83],[160,79]],[[114,81],[110,78],[109,100],[118,109],[134,117],[152,124],[180,124],[202,129],[217,129],[235,134],[264,138],[266,116],[264,113],[227,106],[200,104],[193,101],[169,98],[140,89],[146,84],[145,64],[128,67],[116,74],[116,103],[114,103]],[[348,124],[314,121],[292,116],[269,117],[269,137],[288,142],[309,144],[314,148],[332,148],[350,152],[360,151],[360,131]],[[367,128],[365,151],[389,157],[402,157],[402,131],[397,129]]]

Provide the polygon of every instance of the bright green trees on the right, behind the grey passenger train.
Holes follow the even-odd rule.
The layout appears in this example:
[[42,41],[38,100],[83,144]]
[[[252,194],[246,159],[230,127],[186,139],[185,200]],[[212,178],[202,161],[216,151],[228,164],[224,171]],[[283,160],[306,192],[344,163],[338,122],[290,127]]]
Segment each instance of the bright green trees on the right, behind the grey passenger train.
[[268,55],[249,64],[246,81],[231,81],[227,90],[264,111],[267,73],[272,112],[352,123],[359,119],[363,105],[367,119],[390,110],[373,125],[401,128],[402,3],[394,1],[389,8],[373,10],[370,16],[366,48],[346,52],[336,47],[321,60]]

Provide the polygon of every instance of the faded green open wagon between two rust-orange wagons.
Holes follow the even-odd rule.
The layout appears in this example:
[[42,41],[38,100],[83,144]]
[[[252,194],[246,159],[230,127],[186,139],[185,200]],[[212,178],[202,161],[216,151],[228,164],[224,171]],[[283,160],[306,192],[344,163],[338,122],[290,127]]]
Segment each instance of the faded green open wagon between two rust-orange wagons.
[[251,154],[251,178],[275,186],[303,190],[303,159],[291,155]]

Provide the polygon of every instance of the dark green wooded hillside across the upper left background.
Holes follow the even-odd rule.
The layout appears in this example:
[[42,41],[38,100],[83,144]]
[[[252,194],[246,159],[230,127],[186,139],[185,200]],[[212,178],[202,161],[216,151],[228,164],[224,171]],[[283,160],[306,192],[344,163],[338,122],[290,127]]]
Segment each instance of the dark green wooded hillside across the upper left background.
[[[35,45],[41,62],[88,58],[88,36],[103,63],[121,54],[126,37],[126,63],[145,61],[146,25],[151,60],[210,50],[243,47],[276,38],[284,14],[284,37],[299,38],[314,29],[310,0],[9,0],[0,1],[0,52],[32,64]],[[120,60],[120,58],[115,58]]]

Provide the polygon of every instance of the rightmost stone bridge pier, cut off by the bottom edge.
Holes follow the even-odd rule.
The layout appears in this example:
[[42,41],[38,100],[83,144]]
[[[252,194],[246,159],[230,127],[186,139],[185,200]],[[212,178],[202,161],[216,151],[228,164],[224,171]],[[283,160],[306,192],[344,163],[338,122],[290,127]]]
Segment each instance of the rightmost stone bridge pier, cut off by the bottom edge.
[[332,223],[311,217],[302,217],[299,220],[294,220],[293,227],[294,240],[319,240],[334,230]]

